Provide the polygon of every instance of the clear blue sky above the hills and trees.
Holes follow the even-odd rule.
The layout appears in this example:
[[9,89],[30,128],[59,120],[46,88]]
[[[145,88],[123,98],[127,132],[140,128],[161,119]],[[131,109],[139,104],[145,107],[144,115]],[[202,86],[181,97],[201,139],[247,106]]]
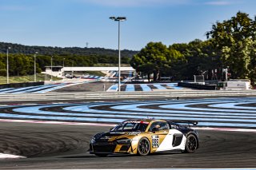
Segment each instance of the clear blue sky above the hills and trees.
[[256,15],[255,0],[0,0],[0,42],[140,50],[206,40],[215,22],[238,11]]

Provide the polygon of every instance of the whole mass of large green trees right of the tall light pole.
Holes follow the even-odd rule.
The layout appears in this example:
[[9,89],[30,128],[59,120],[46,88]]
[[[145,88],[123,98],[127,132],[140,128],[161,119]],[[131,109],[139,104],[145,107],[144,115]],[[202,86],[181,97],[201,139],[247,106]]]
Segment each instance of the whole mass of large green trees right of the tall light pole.
[[232,79],[256,81],[256,18],[238,12],[223,22],[216,22],[206,32],[206,41],[163,45],[150,42],[130,60],[138,72],[154,81],[167,76],[174,80],[191,80],[194,75],[206,79],[224,79],[227,69]]

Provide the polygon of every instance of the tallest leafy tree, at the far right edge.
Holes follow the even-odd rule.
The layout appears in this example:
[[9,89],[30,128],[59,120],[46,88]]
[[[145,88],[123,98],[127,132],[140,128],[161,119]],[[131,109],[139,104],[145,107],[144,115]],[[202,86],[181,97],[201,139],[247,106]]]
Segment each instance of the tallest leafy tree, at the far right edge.
[[233,78],[254,80],[254,44],[256,36],[255,18],[238,12],[236,16],[223,22],[216,22],[207,38],[213,38],[215,47],[222,51],[221,61],[224,68],[229,67]]

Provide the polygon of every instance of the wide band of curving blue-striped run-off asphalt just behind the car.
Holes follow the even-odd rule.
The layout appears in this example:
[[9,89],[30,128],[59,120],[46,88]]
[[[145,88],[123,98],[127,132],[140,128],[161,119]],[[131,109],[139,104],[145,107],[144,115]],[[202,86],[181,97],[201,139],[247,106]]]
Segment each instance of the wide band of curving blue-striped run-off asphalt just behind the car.
[[[13,109],[14,113],[17,112],[18,114],[0,113],[0,117],[116,123],[126,119],[154,117],[155,119],[199,121],[198,125],[210,127],[256,128],[256,109],[254,107],[242,107],[242,104],[254,103],[256,103],[255,97],[250,97],[250,101],[245,97],[175,101],[116,101],[85,104],[25,105],[22,107],[13,106],[15,107]],[[147,106],[153,105],[159,105],[159,109],[146,109]],[[211,105],[215,108],[194,108],[193,105]],[[50,110],[51,107],[57,106],[62,106],[66,112],[42,110],[46,108]],[[95,106],[98,106],[96,107],[98,109]],[[99,109],[104,108],[103,106],[109,106],[112,110]],[[236,110],[236,107],[240,110]]]

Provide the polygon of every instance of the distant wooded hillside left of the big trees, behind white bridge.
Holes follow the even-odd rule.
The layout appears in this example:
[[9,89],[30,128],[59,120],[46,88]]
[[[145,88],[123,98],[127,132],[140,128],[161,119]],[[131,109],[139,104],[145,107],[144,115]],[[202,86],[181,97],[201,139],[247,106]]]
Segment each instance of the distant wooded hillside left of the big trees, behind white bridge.
[[[102,48],[59,48],[45,46],[28,46],[0,42],[0,76],[6,76],[6,50],[9,49],[10,76],[34,74],[34,54],[36,56],[37,73],[45,70],[45,66],[94,66],[101,64],[118,64],[118,50]],[[138,53],[132,50],[122,50],[122,63],[129,64],[130,57]]]

